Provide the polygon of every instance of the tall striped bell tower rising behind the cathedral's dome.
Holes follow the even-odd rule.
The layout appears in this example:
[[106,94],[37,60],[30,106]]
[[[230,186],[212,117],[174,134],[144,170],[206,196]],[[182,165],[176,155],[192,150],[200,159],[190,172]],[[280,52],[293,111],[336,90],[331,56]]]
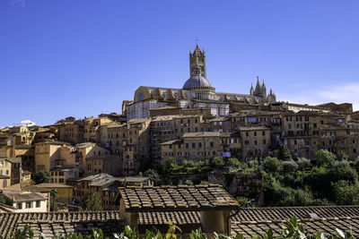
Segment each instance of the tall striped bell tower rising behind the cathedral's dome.
[[205,48],[201,52],[196,45],[195,51],[189,51],[189,75],[190,77],[195,75],[201,75],[206,78],[206,53]]

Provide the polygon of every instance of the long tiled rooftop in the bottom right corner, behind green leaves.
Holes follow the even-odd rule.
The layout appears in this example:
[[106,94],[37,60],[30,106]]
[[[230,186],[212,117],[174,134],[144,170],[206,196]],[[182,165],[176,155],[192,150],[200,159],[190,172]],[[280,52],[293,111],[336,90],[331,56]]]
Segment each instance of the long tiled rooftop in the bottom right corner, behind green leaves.
[[269,227],[278,236],[285,226],[285,219],[296,216],[300,224],[311,234],[321,231],[325,235],[335,235],[336,228],[359,235],[359,206],[314,206],[240,209],[232,218],[232,235],[267,234]]

